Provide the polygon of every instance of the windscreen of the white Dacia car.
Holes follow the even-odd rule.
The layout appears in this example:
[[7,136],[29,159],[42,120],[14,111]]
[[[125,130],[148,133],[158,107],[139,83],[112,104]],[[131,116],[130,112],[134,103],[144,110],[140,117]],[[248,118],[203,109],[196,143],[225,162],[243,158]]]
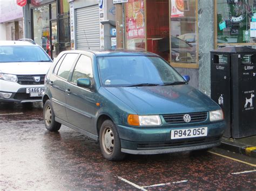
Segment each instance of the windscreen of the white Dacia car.
[[0,62],[51,62],[38,46],[0,46]]

